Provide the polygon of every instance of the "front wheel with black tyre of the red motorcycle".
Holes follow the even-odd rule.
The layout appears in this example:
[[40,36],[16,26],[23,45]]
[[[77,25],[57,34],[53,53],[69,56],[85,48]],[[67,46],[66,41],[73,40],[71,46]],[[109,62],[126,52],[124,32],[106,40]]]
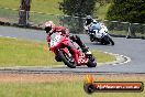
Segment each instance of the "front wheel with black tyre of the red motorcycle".
[[59,57],[62,58],[62,61],[70,68],[76,68],[76,63],[74,61],[72,57],[70,57],[68,54],[66,54],[65,52],[63,51],[59,51],[58,52],[58,55]]

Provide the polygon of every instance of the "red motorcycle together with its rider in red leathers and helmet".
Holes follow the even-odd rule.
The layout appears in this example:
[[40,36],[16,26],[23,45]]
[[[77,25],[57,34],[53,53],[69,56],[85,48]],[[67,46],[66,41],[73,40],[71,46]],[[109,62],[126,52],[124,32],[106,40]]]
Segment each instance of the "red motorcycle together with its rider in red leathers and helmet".
[[[88,67],[97,66],[96,58],[78,35],[69,36],[68,29],[55,26],[53,21],[45,23],[45,31],[47,33],[46,40],[49,45],[49,51],[55,54],[57,62],[64,62],[70,68],[81,65],[87,65]],[[75,42],[81,50],[75,45]]]

